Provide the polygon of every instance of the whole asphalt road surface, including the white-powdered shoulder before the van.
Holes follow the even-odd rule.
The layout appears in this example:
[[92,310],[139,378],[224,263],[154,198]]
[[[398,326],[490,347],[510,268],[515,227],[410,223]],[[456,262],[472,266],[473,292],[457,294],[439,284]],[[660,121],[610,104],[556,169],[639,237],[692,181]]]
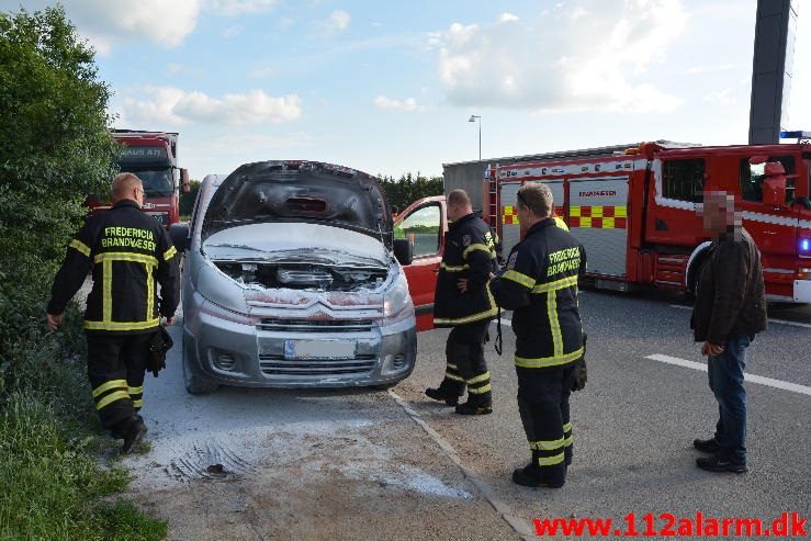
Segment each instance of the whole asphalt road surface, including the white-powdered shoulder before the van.
[[[495,412],[473,418],[423,395],[444,371],[447,330],[419,335],[414,374],[390,393],[191,396],[173,350],[146,382],[151,451],[125,462],[132,496],[169,520],[172,539],[518,539],[544,517],[624,526],[635,512],[640,531],[647,512],[809,517],[811,307],[774,306],[773,319],[788,323],[750,349],[747,372],[776,383],[746,384],[751,471],[734,475],[695,466],[691,441],[711,435],[717,415],[707,374],[649,358],[705,362],[682,304],[663,293],[582,293],[589,380],[573,396],[575,462],[562,489],[510,481],[529,451],[505,327],[505,354],[487,346]],[[222,474],[209,470],[216,464]]]

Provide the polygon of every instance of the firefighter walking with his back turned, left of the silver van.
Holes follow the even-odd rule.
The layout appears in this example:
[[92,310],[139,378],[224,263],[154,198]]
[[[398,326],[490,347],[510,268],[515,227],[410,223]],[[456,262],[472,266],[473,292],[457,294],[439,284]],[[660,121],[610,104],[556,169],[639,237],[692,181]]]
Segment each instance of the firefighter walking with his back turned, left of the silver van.
[[[179,256],[164,226],[144,214],[144,187],[132,173],[112,183],[113,207],[91,216],[68,245],[47,306],[56,330],[67,303],[92,269],[85,331],[88,376],[102,426],[129,452],[146,433],[137,415],[144,393],[149,339],[161,316],[173,323],[180,300]],[[160,284],[160,298],[157,294]]]

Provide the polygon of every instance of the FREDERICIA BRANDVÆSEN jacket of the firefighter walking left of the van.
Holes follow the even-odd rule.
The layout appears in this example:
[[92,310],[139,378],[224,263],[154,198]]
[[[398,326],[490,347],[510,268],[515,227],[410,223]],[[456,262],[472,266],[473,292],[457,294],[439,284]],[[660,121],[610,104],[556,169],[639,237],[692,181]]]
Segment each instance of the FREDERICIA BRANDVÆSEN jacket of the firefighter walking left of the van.
[[[91,216],[68,245],[56,274],[48,314],[61,314],[92,269],[88,333],[147,334],[171,317],[180,301],[179,255],[160,223],[137,203],[117,202]],[[160,298],[157,284],[160,284]]]

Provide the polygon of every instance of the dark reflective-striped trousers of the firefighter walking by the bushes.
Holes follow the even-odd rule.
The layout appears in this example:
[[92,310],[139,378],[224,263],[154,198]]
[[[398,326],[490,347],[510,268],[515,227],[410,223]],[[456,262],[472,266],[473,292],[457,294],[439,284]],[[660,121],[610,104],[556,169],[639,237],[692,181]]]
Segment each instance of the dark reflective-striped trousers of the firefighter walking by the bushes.
[[151,334],[87,334],[88,377],[101,426],[112,430],[140,409]]

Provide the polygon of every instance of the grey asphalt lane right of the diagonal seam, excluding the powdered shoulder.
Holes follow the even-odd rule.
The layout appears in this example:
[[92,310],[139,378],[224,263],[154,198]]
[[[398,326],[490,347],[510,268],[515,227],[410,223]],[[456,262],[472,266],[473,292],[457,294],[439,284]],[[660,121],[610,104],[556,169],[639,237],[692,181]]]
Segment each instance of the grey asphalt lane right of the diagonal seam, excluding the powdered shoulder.
[[[588,340],[588,384],[575,393],[572,417],[575,461],[560,491],[516,486],[509,476],[529,458],[516,406],[516,377],[505,329],[503,357],[488,348],[494,414],[460,418],[420,396],[439,382],[447,331],[419,336],[419,364],[395,391],[451,441],[463,461],[478,472],[514,514],[534,517],[610,517],[629,512],[702,511],[714,517],[771,520],[780,512],[811,510],[811,396],[747,383],[748,460],[745,475],[698,470],[691,449],[709,437],[717,406],[707,374],[647,359],[664,354],[703,363],[689,334],[688,309],[680,297],[653,293],[620,295],[583,292],[581,309]],[[747,373],[811,385],[811,308],[775,306],[773,323],[747,358]],[[804,325],[804,326],[803,326]],[[811,390],[806,390],[811,391]]]

